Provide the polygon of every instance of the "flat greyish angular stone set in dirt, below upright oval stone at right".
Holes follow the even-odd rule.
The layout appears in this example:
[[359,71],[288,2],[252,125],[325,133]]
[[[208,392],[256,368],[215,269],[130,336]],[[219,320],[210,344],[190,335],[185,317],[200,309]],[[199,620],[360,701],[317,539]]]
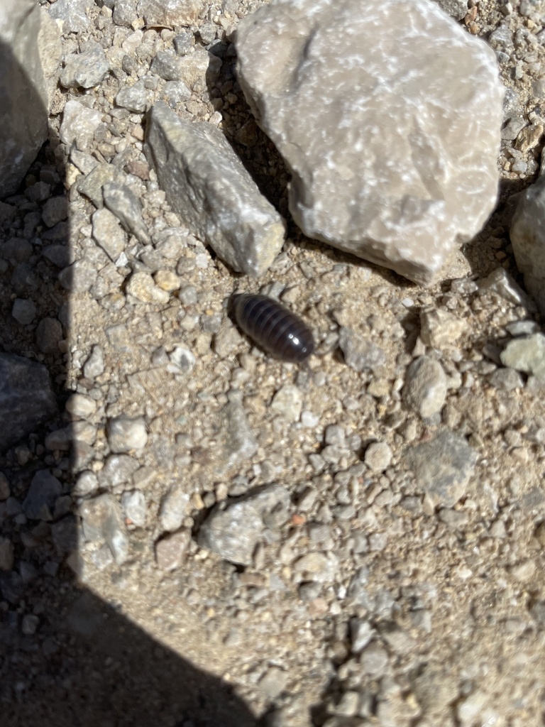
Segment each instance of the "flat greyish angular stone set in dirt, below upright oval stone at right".
[[416,486],[435,506],[453,507],[464,495],[477,462],[477,452],[464,437],[443,430],[432,441],[416,445],[406,453]]

